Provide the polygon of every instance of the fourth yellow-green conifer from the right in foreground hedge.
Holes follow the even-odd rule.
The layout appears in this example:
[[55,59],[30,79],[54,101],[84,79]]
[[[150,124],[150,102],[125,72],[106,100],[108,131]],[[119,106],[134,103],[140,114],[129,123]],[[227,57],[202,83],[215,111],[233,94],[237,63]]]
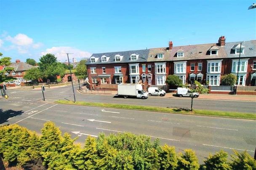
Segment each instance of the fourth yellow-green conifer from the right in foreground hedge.
[[174,147],[164,145],[160,152],[160,169],[175,170],[178,166],[177,154]]

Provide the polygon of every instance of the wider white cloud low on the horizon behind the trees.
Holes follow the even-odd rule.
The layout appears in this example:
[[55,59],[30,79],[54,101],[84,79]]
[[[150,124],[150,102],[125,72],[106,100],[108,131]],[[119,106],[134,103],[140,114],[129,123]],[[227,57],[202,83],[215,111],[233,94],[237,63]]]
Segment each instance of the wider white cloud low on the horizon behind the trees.
[[73,47],[51,47],[46,49],[44,52],[41,52],[41,55],[45,55],[48,53],[54,54],[55,57],[57,57],[57,60],[61,61],[67,60],[67,54],[61,53],[73,53],[69,55],[69,60],[72,60],[72,58],[89,58],[91,56],[90,52],[82,51]]

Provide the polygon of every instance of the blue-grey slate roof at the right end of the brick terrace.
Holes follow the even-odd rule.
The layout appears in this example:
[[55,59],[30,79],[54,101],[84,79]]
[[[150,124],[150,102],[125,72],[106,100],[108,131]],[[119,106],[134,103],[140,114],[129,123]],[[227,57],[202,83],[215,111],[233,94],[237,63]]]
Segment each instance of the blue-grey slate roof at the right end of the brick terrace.
[[[232,49],[233,47],[240,48],[240,42],[226,43],[225,50],[227,52],[227,58],[239,58],[239,54],[235,54],[235,50]],[[240,55],[241,58],[256,57],[256,40],[242,42],[242,48],[244,48],[244,54]]]

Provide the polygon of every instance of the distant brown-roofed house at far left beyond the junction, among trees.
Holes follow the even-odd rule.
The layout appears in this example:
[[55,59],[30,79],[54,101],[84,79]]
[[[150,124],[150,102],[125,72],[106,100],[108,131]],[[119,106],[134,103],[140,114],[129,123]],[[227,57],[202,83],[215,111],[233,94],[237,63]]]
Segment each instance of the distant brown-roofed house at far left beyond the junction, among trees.
[[21,62],[20,60],[16,60],[15,63],[11,63],[11,65],[8,65],[8,67],[12,67],[14,68],[14,70],[11,71],[10,73],[5,73],[5,75],[17,78],[15,82],[16,84],[19,84],[21,82],[23,83],[30,82],[30,81],[24,80],[23,77],[25,75],[25,72],[31,68],[36,68],[38,66],[33,66],[28,63]]

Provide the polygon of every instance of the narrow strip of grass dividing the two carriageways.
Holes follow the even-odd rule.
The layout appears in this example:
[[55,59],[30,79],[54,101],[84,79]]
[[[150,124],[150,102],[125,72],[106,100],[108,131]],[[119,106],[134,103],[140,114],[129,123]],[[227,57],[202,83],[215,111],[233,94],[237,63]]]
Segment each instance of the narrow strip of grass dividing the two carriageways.
[[256,114],[242,113],[242,112],[225,112],[225,111],[212,111],[212,110],[193,110],[192,112],[190,112],[190,111],[179,109],[179,108],[123,105],[123,104],[110,104],[110,103],[97,103],[97,102],[82,102],[82,101],[73,102],[73,101],[67,101],[67,100],[58,100],[55,103],[67,104],[67,105],[109,107],[109,108],[129,109],[129,110],[143,110],[143,111],[155,111],[155,112],[166,112],[166,113],[179,113],[179,114],[187,114],[187,115],[206,115],[206,116],[243,118],[243,119],[256,120]]

